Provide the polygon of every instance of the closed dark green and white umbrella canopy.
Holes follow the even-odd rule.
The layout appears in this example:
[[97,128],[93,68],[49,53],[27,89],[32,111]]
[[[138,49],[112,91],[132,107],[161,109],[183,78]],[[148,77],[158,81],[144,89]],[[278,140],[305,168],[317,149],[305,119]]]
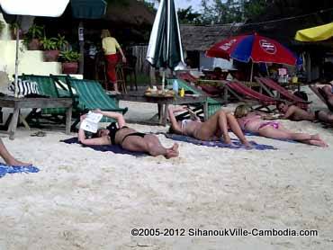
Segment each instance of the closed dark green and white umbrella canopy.
[[174,0],[159,3],[146,59],[152,67],[170,68],[184,66],[182,40]]

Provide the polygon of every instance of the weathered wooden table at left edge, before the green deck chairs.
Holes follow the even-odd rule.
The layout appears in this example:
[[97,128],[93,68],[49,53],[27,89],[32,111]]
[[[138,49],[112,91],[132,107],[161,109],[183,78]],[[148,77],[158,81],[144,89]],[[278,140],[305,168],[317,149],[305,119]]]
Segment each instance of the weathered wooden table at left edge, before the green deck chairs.
[[14,139],[14,134],[19,119],[20,109],[38,108],[67,108],[66,111],[66,134],[70,133],[72,120],[72,98],[14,98],[12,96],[0,97],[1,108],[14,108],[14,114],[7,132],[9,138]]

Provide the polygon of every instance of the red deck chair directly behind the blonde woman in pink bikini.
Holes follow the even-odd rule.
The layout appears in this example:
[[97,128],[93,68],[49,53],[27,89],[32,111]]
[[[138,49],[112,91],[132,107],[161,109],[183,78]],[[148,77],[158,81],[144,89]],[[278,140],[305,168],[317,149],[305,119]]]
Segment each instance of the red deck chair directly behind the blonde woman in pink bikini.
[[276,109],[276,104],[278,100],[273,97],[267,96],[265,94],[260,94],[257,91],[247,87],[246,85],[242,85],[238,81],[225,81],[227,86],[227,91],[230,94],[233,94],[238,98],[239,101],[246,102],[243,96],[250,98],[252,101],[256,101],[260,103],[260,106],[256,108],[256,110],[266,109],[268,112],[272,112],[273,110],[269,109],[269,106],[275,105],[274,110]]

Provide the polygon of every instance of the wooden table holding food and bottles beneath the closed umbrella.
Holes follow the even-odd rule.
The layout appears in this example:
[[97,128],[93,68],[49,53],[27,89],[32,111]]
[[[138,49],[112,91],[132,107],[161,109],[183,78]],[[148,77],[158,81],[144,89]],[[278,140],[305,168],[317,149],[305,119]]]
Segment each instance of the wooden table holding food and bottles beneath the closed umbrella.
[[167,106],[169,104],[182,105],[192,103],[202,103],[204,120],[208,119],[208,103],[207,97],[203,95],[184,97],[148,97],[144,95],[144,92],[129,92],[128,94],[117,95],[117,98],[122,101],[138,102],[138,103],[157,103],[159,113],[159,124],[166,126],[167,118]]

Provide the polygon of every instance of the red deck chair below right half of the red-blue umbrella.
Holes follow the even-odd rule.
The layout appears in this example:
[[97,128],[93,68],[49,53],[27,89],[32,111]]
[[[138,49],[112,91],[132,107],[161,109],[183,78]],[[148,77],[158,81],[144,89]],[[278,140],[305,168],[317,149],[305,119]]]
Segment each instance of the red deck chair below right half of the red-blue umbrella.
[[[304,110],[307,110],[309,103],[311,103],[302,100],[300,97],[294,95],[293,93],[290,93],[287,89],[277,84],[274,80],[270,78],[255,76],[255,79],[257,83],[261,86],[261,88],[264,89],[266,93],[269,94],[271,97],[275,97],[278,99],[284,97],[284,99],[286,99],[287,101],[297,105]],[[275,91],[276,94],[274,94],[272,91]]]

